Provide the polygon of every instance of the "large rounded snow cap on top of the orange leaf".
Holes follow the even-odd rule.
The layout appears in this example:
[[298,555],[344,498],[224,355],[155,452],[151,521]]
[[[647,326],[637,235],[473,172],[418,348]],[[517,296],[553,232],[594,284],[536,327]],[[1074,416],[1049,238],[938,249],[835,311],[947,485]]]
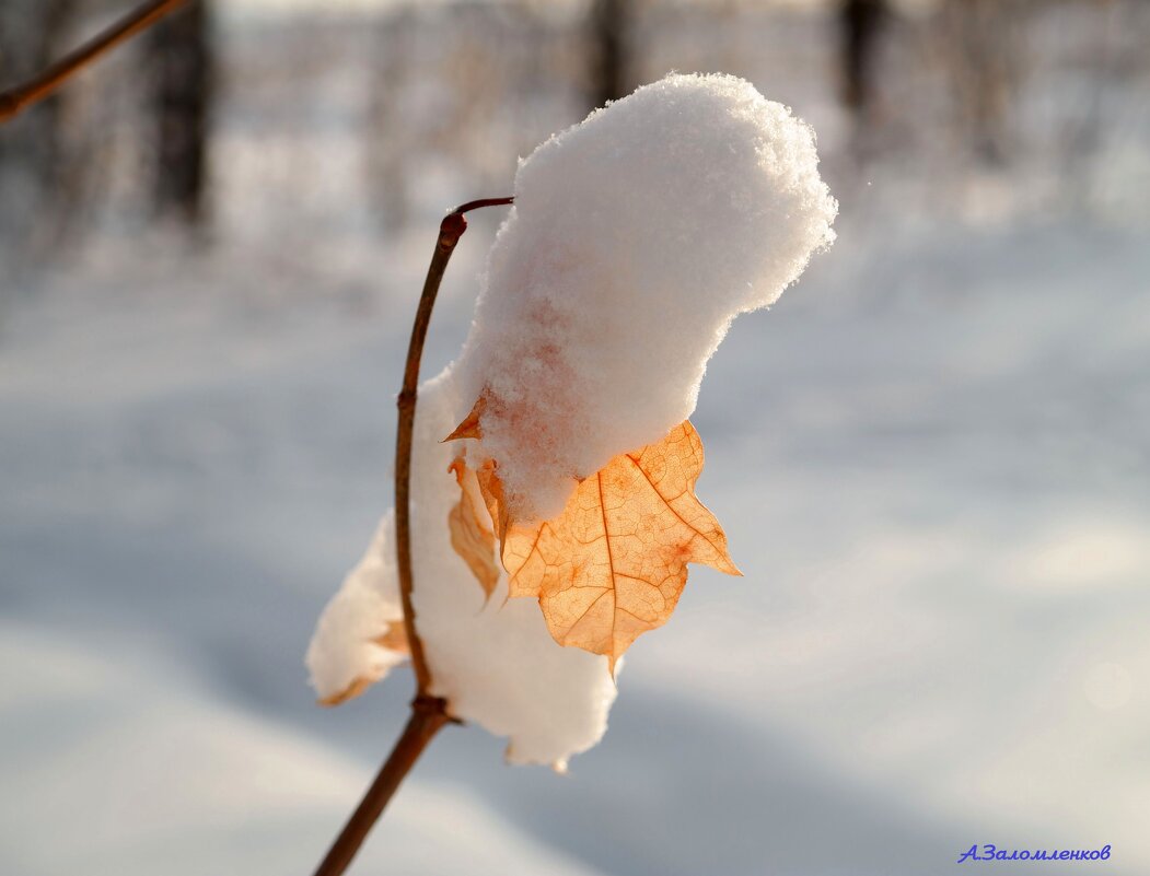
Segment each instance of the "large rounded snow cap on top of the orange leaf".
[[811,128],[733,76],[667,76],[522,161],[457,369],[520,516],[687,420],[731,320],[837,209]]

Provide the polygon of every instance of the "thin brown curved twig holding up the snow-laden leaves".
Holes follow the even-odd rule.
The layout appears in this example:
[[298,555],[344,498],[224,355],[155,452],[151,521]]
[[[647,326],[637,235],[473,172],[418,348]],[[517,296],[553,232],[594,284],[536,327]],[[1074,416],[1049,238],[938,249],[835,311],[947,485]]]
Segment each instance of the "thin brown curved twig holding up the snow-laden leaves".
[[407,644],[412,652],[412,667],[415,670],[415,699],[412,701],[412,716],[404,728],[388,760],[381,767],[375,782],[363,794],[360,805],[352,813],[344,829],[336,837],[331,850],[320,863],[315,876],[340,876],[351,865],[371,827],[383,814],[384,807],[391,800],[399,783],[415,766],[420,754],[439,732],[444,724],[454,722],[447,714],[447,702],[439,697],[432,697],[431,673],[428,670],[427,658],[423,654],[423,643],[415,629],[415,609],[412,606],[412,527],[411,527],[411,486],[412,486],[412,440],[415,432],[415,399],[420,383],[420,361],[423,358],[423,341],[427,339],[428,325],[431,322],[431,308],[443,274],[455,251],[455,244],[467,231],[465,213],[480,207],[494,207],[512,203],[512,198],[484,198],[468,201],[457,207],[439,223],[439,238],[436,240],[435,254],[423,282],[423,294],[415,312],[412,325],[412,339],[407,347],[407,364],[404,368],[404,387],[399,392],[399,425],[396,437],[396,552],[399,561],[399,595],[404,605],[404,629]]

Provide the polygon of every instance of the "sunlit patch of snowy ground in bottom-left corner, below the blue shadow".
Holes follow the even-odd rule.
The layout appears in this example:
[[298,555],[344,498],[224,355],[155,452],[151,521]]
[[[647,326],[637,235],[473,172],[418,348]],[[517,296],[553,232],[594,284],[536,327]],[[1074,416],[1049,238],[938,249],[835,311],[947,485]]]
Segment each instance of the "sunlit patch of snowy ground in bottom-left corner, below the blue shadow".
[[[298,873],[362,792],[353,759],[204,690],[162,652],[3,621],[0,658],[15,732],[0,753],[6,874]],[[393,806],[355,873],[596,876],[466,787],[411,783]]]

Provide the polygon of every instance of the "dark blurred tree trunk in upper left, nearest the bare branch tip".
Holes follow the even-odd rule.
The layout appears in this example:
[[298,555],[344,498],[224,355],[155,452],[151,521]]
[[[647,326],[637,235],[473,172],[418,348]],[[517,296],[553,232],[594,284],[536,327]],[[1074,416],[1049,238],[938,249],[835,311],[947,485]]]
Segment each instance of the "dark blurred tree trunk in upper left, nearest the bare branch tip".
[[155,149],[153,206],[159,215],[195,225],[207,212],[215,67],[206,0],[153,28],[145,53]]

